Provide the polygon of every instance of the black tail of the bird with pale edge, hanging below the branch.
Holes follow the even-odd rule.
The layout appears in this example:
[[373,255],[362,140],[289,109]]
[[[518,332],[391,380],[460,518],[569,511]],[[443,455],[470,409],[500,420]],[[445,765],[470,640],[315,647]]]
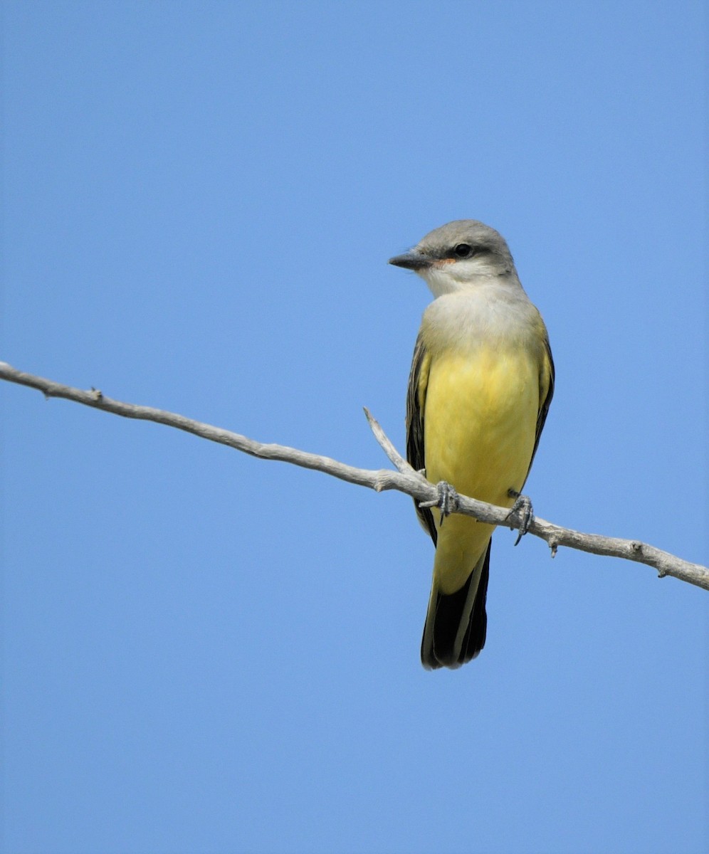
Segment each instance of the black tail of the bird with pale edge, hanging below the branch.
[[489,541],[460,590],[442,594],[433,582],[421,640],[421,664],[426,670],[460,667],[475,658],[483,648],[488,626],[485,598],[491,544]]

